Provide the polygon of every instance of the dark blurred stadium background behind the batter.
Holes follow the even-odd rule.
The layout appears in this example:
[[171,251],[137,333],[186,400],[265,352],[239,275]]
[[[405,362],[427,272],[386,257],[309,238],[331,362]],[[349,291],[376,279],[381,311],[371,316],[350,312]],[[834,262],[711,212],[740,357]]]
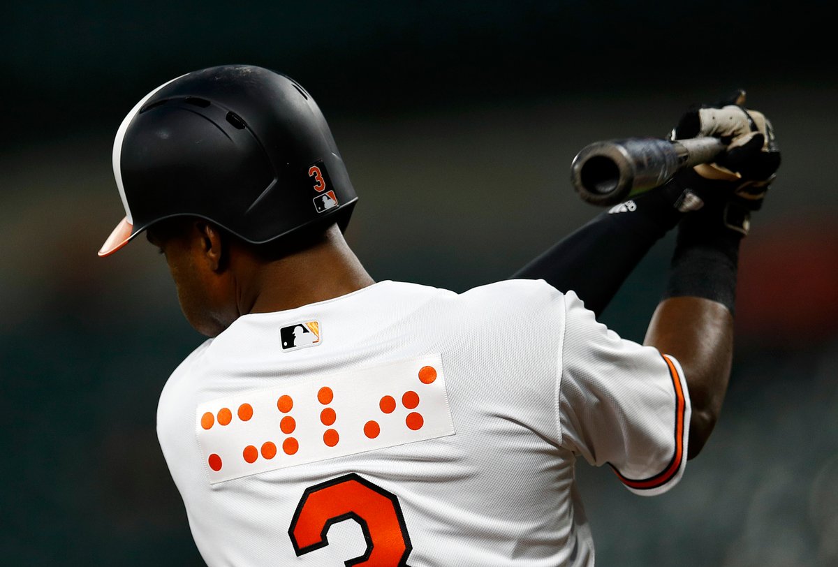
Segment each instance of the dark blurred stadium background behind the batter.
[[[826,2],[4,3],[0,12],[0,563],[200,565],[155,433],[200,337],[122,218],[111,144],[147,91],[261,64],[318,101],[379,280],[464,291],[599,211],[589,142],[664,136],[733,88],[772,120],[779,179],[742,247],[722,419],[678,487],[582,463],[599,565],[838,564],[838,76]],[[603,321],[642,340],[670,238]],[[597,259],[592,259],[595,261]],[[514,456],[510,456],[514,458]],[[284,529],[277,527],[277,529]]]

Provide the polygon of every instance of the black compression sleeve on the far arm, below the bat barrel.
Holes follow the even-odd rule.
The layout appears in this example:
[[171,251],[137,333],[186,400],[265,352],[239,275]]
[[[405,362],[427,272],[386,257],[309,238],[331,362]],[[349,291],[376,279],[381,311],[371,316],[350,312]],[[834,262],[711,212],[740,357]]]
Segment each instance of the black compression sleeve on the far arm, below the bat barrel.
[[678,224],[683,214],[673,204],[682,190],[669,183],[598,214],[512,277],[575,291],[599,317],[652,245]]

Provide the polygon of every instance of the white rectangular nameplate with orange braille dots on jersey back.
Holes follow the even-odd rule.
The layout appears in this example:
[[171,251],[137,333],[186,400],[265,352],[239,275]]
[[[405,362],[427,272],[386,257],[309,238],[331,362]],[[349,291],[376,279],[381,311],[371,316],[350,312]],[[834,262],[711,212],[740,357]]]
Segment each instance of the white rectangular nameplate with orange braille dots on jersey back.
[[280,384],[196,408],[209,483],[454,435],[442,357]]

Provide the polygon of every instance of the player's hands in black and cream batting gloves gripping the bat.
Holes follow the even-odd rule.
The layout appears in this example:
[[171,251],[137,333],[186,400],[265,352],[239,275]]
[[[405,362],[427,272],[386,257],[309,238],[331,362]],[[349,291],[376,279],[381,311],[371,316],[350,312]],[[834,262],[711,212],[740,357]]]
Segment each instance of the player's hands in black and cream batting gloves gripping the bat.
[[747,234],[750,211],[762,207],[776,178],[780,152],[771,121],[744,103],[745,91],[736,90],[715,105],[693,106],[680,117],[670,139],[711,136],[727,143],[727,152],[715,163],[676,175],[685,189],[679,206],[722,209],[728,228]]

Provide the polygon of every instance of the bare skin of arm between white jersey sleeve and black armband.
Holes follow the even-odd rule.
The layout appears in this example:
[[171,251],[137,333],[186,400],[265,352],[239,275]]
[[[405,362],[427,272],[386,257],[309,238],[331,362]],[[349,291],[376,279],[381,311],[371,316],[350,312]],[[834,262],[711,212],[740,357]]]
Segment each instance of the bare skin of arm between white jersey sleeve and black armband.
[[670,297],[654,312],[644,344],[677,358],[690,390],[692,418],[687,456],[696,456],[722,410],[733,354],[733,317],[704,297]]

